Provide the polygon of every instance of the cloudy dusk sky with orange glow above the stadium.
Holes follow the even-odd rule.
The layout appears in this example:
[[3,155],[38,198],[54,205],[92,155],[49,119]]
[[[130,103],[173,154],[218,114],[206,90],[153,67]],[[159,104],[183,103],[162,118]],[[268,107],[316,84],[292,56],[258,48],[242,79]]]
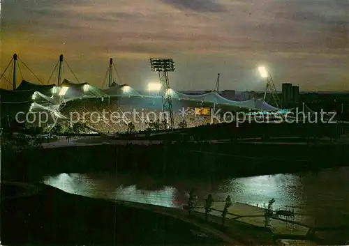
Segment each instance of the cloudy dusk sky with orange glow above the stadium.
[[[1,71],[17,53],[45,83],[64,54],[98,87],[110,57],[122,83],[157,82],[154,56],[174,59],[177,90],[214,89],[218,72],[221,89],[262,90],[259,65],[277,89],[348,89],[348,0],[2,0],[1,18]],[[68,67],[64,77],[76,82]]]

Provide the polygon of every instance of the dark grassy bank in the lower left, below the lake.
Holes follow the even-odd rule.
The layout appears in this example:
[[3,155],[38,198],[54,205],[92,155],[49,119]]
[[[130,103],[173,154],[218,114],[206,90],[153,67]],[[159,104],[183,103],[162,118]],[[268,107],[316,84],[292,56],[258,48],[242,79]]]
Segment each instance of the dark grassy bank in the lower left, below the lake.
[[1,243],[5,245],[223,245],[174,217],[46,185],[39,185],[37,194],[8,197],[22,192],[1,185]]

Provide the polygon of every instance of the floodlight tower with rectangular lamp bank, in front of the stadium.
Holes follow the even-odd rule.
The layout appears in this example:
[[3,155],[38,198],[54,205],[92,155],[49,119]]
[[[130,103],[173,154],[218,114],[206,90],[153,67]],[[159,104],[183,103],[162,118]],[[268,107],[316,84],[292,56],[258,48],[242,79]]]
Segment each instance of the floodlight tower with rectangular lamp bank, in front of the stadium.
[[174,119],[172,110],[172,100],[170,93],[170,81],[168,79],[168,72],[174,72],[174,61],[172,59],[156,59],[149,60],[151,71],[158,72],[158,77],[162,84],[162,99],[163,112],[168,112],[170,116],[170,128],[174,129]]

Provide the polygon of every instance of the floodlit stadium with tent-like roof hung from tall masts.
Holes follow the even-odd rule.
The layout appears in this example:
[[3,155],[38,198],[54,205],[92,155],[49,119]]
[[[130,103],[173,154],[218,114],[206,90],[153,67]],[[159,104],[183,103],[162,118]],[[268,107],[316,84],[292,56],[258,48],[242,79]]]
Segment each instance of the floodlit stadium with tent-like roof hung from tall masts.
[[[17,55],[13,57],[15,64]],[[61,55],[59,62],[63,61],[65,60]],[[47,120],[45,118],[45,127],[50,127],[57,120],[73,120],[75,123],[83,123],[91,131],[112,133],[127,131],[128,123],[132,122],[135,130],[141,131],[149,128],[149,121],[156,120],[154,116],[161,115],[161,112],[164,111],[163,98],[168,96],[171,98],[174,128],[178,128],[182,121],[186,121],[187,127],[215,123],[211,121],[210,116],[216,112],[221,114],[224,112],[251,114],[284,114],[287,112],[285,109],[269,105],[262,98],[245,101],[229,100],[220,95],[218,90],[201,95],[188,95],[173,89],[154,93],[135,89],[128,84],[117,84],[112,79],[112,59],[110,59],[110,82],[107,89],[98,89],[85,82],[73,83],[68,79],[61,79],[60,71],[57,83],[59,86],[35,84],[22,79],[18,86],[15,86],[15,81],[13,81],[13,90],[0,89],[2,128],[19,121],[37,123],[34,119],[38,120],[38,115],[45,112],[49,116]],[[15,77],[15,65],[13,77]],[[127,117],[125,112],[136,112],[136,115]],[[152,114],[149,114],[150,112]],[[110,116],[115,116],[115,113],[119,117],[116,121],[115,117],[113,117],[114,120],[110,118]],[[26,118],[29,115],[30,117]],[[145,120],[144,115],[146,115]],[[41,121],[40,124],[42,126],[43,122]]]

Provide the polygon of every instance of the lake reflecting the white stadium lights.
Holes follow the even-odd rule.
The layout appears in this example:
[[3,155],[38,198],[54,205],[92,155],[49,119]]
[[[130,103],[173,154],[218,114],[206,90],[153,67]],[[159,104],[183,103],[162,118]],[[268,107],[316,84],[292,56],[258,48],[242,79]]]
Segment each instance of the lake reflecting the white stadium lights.
[[223,201],[230,194],[237,202],[263,206],[274,198],[275,208],[294,207],[296,213],[311,215],[312,220],[330,214],[336,224],[349,217],[349,169],[325,170],[317,175],[276,174],[225,180],[157,180],[148,176],[110,174],[59,174],[43,181],[61,190],[87,197],[120,199],[159,206],[180,207],[188,191],[197,190],[203,201],[207,194]]

